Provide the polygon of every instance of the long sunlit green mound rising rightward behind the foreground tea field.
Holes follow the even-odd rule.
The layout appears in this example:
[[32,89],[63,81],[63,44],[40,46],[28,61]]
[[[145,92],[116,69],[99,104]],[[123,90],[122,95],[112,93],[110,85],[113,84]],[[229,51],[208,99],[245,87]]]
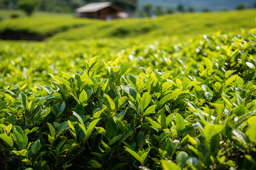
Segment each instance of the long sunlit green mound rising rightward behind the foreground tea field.
[[[206,27],[207,26],[207,27]],[[131,18],[112,20],[98,25],[86,25],[60,32],[49,40],[89,40],[113,37],[134,37],[150,40],[151,37],[190,36],[225,30],[255,27],[255,10],[197,12],[158,16],[156,19]],[[85,31],[86,30],[86,31]],[[119,32],[120,31],[120,32]]]

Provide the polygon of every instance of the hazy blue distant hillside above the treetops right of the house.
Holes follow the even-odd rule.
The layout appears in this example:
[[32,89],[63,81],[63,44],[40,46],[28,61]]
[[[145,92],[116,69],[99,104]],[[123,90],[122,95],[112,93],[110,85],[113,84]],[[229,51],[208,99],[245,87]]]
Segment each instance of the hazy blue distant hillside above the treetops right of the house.
[[256,0],[139,0],[139,8],[142,8],[145,3],[173,9],[176,9],[177,5],[182,3],[185,8],[192,6],[196,11],[202,11],[204,8],[208,8],[211,11],[219,11],[224,9],[234,10],[240,3],[245,3],[246,8],[253,8]]

